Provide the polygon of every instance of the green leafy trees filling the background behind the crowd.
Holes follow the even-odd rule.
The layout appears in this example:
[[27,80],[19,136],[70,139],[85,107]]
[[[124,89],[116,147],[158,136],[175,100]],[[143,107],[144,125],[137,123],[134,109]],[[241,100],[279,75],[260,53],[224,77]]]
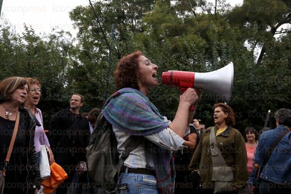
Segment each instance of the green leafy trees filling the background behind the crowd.
[[[287,92],[291,35],[274,38],[282,33],[278,32],[282,24],[291,23],[290,0],[244,0],[234,9],[225,0],[217,0],[217,5],[206,0],[103,0],[94,7],[110,48],[89,5],[77,6],[70,13],[78,29],[76,44],[63,31],[40,37],[31,27],[25,26],[22,35],[7,25],[0,27],[1,78],[39,78],[45,90],[40,106],[47,115],[64,108],[73,92],[85,96],[85,111],[101,107],[106,73],[106,89],[112,94],[118,60],[137,49],[159,66],[159,79],[169,70],[210,72],[232,61],[234,86],[229,105],[235,111],[235,127],[241,131],[249,125],[260,129],[268,109],[274,113],[291,107]],[[258,46],[262,52],[256,62]],[[159,85],[148,97],[173,119],[180,94],[178,88]],[[196,118],[213,125],[212,107],[220,101],[204,91]]]

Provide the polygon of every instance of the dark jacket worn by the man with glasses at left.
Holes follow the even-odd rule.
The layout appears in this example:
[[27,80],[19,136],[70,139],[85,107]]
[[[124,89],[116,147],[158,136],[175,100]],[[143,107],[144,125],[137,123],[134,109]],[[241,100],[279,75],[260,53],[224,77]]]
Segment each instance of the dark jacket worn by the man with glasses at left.
[[[49,144],[56,162],[60,158],[61,163],[65,164],[86,161],[86,147],[89,144],[89,138],[89,121],[81,114],[72,113],[70,108],[57,112],[50,121]],[[66,161],[66,159],[72,159],[71,156],[74,160]]]

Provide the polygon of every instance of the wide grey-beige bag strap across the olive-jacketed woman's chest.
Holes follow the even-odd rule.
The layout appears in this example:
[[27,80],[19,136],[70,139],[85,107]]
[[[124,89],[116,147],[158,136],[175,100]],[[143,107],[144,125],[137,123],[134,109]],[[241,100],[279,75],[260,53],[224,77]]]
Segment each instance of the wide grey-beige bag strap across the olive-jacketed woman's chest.
[[210,150],[211,150],[211,158],[212,158],[212,166],[213,167],[224,167],[227,166],[218,146],[216,143],[215,130],[212,127],[210,132]]

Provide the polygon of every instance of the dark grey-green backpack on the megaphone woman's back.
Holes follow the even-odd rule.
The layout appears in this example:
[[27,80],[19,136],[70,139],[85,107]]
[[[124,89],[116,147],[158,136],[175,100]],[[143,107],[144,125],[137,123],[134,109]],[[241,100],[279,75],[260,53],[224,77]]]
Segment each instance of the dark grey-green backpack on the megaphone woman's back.
[[102,112],[99,114],[87,147],[86,158],[90,177],[106,192],[115,192],[121,166],[137,146],[137,141],[130,141],[131,139],[132,136],[125,143],[125,151],[119,158],[112,124],[104,118]]

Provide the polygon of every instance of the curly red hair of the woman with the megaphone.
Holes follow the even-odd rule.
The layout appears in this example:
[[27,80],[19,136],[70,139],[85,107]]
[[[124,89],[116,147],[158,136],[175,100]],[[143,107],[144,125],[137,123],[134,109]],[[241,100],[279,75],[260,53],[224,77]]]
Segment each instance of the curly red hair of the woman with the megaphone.
[[140,50],[137,50],[133,53],[125,55],[119,60],[117,69],[114,73],[116,91],[120,90],[121,88],[134,88],[137,90],[140,89],[138,85],[138,59],[140,56],[144,56],[144,54]]

